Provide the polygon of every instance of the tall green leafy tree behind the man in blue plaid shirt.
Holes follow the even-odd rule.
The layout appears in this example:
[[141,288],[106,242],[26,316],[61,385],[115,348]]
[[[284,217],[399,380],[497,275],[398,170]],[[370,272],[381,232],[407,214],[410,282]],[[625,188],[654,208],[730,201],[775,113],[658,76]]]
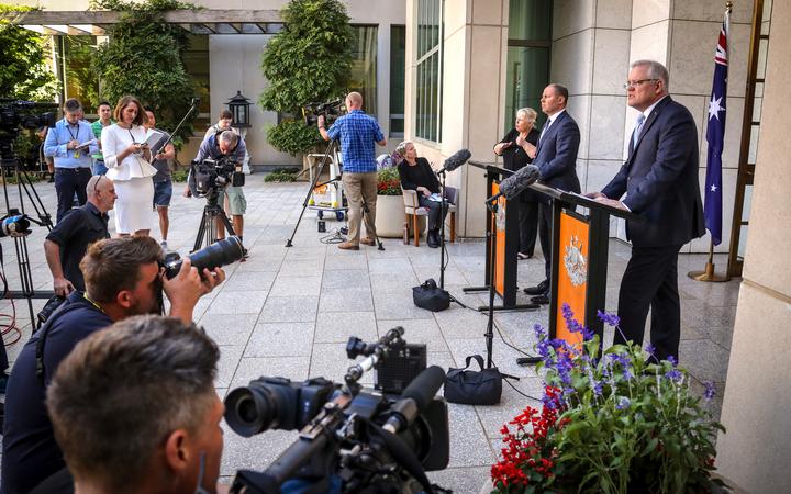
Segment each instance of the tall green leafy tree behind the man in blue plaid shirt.
[[[261,70],[269,86],[258,104],[264,110],[301,115],[308,103],[343,97],[352,66],[353,33],[338,0],[291,0],[281,11],[283,30],[269,41]],[[276,149],[296,155],[320,142],[315,128],[286,119],[268,132]]]

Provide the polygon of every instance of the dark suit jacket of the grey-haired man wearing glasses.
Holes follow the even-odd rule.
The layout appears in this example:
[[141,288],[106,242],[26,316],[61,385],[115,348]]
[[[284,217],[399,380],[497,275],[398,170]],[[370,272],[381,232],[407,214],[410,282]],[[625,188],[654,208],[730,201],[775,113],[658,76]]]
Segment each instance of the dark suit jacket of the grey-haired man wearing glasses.
[[643,124],[639,141],[626,162],[602,189],[639,214],[627,222],[635,247],[683,245],[705,233],[698,181],[698,130],[689,110],[661,100]]

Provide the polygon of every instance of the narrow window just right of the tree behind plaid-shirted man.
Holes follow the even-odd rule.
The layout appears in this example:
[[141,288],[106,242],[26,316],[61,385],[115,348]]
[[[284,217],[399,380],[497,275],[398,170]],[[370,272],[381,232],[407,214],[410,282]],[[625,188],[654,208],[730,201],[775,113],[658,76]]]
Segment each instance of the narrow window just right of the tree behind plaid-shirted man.
[[363,109],[377,116],[377,26],[353,26],[349,89],[363,94]]

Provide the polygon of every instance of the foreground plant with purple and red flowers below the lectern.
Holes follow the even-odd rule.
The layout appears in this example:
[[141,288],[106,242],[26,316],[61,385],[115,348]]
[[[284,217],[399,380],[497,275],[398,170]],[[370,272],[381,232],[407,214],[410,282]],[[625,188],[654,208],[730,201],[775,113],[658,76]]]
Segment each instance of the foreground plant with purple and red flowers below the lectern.
[[[725,429],[690,392],[686,371],[633,344],[601,353],[599,336],[573,319],[568,304],[562,312],[582,343],[550,340],[535,326],[546,371],[543,406],[502,427],[493,492],[723,492],[712,479],[713,441]],[[620,330],[617,316],[599,316]],[[705,384],[703,398],[713,395]]]

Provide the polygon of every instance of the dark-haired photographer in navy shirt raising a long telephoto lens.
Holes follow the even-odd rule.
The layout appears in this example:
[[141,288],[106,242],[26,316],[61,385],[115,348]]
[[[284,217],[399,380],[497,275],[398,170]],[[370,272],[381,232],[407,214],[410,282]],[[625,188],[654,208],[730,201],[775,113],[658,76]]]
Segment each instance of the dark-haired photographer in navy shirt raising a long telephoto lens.
[[189,259],[170,279],[164,276],[161,262],[163,250],[148,236],[110,238],[88,248],[80,262],[86,292],[75,291],[66,299],[13,366],[5,394],[0,492],[26,493],[64,468],[44,396],[75,345],[113,322],[160,313],[163,291],[170,302],[170,316],[190,324],[198,300],[225,279],[222,269],[199,272]]

